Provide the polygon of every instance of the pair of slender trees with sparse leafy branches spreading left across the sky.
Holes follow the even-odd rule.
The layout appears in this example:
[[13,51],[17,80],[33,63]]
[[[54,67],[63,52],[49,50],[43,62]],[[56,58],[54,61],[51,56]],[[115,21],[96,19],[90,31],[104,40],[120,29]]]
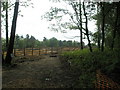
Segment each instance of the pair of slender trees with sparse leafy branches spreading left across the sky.
[[[62,0],[60,0],[62,1]],[[95,9],[95,6],[89,2],[83,2],[81,0],[63,0],[66,2],[66,5],[69,6],[69,8],[58,8],[58,7],[52,7],[49,12],[47,12],[44,15],[44,18],[47,18],[48,21],[52,20],[59,20],[57,21],[57,24],[52,24],[53,30],[79,30],[80,34],[80,49],[83,49],[83,39],[88,40],[88,47],[90,49],[90,52],[92,52],[92,46],[91,46],[91,35],[88,28],[88,20],[91,17],[91,14],[93,9]],[[89,5],[92,5],[91,7]],[[93,8],[94,7],[94,8]],[[91,12],[89,11],[91,9]],[[63,15],[64,14],[64,15]],[[65,16],[69,18],[69,20],[62,20]],[[58,28],[56,28],[58,26]],[[68,30],[66,30],[69,32]],[[83,37],[83,35],[85,37]]]

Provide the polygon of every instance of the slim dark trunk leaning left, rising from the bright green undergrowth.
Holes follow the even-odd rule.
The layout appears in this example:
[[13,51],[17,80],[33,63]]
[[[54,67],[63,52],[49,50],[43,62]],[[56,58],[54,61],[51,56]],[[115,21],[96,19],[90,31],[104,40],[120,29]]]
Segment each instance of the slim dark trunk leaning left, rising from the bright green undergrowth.
[[90,49],[90,52],[92,52],[92,46],[91,46],[91,43],[90,43],[90,38],[89,38],[89,33],[88,33],[88,19],[87,19],[87,15],[86,15],[86,11],[85,11],[85,4],[83,2],[83,11],[84,11],[84,16],[85,16],[85,28],[86,28],[86,36],[87,36],[87,40],[88,40],[88,46],[89,46],[89,49]]

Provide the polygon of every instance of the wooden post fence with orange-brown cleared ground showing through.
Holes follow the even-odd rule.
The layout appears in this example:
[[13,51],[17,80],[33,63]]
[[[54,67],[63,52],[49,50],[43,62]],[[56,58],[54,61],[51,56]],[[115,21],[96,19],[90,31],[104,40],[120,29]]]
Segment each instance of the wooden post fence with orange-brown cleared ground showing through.
[[[14,56],[39,56],[46,54],[58,54],[63,51],[74,51],[79,50],[78,47],[48,47],[48,48],[24,48],[24,49],[14,49]],[[6,56],[6,52],[3,53]]]

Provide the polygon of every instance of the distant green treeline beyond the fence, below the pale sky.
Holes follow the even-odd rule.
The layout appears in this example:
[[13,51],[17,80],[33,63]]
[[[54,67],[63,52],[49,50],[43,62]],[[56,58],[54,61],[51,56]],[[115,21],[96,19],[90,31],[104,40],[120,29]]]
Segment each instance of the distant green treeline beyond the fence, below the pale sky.
[[[6,40],[2,38],[3,51],[6,50],[5,41]],[[71,40],[62,41],[62,40],[57,40],[55,37],[52,37],[50,39],[44,37],[43,41],[39,41],[34,36],[29,36],[29,34],[27,34],[25,38],[23,36],[19,36],[18,34],[16,34],[14,48],[23,49],[23,48],[41,48],[41,47],[78,47],[79,45],[80,43],[77,41],[71,41]],[[84,43],[83,46],[85,46]]]

